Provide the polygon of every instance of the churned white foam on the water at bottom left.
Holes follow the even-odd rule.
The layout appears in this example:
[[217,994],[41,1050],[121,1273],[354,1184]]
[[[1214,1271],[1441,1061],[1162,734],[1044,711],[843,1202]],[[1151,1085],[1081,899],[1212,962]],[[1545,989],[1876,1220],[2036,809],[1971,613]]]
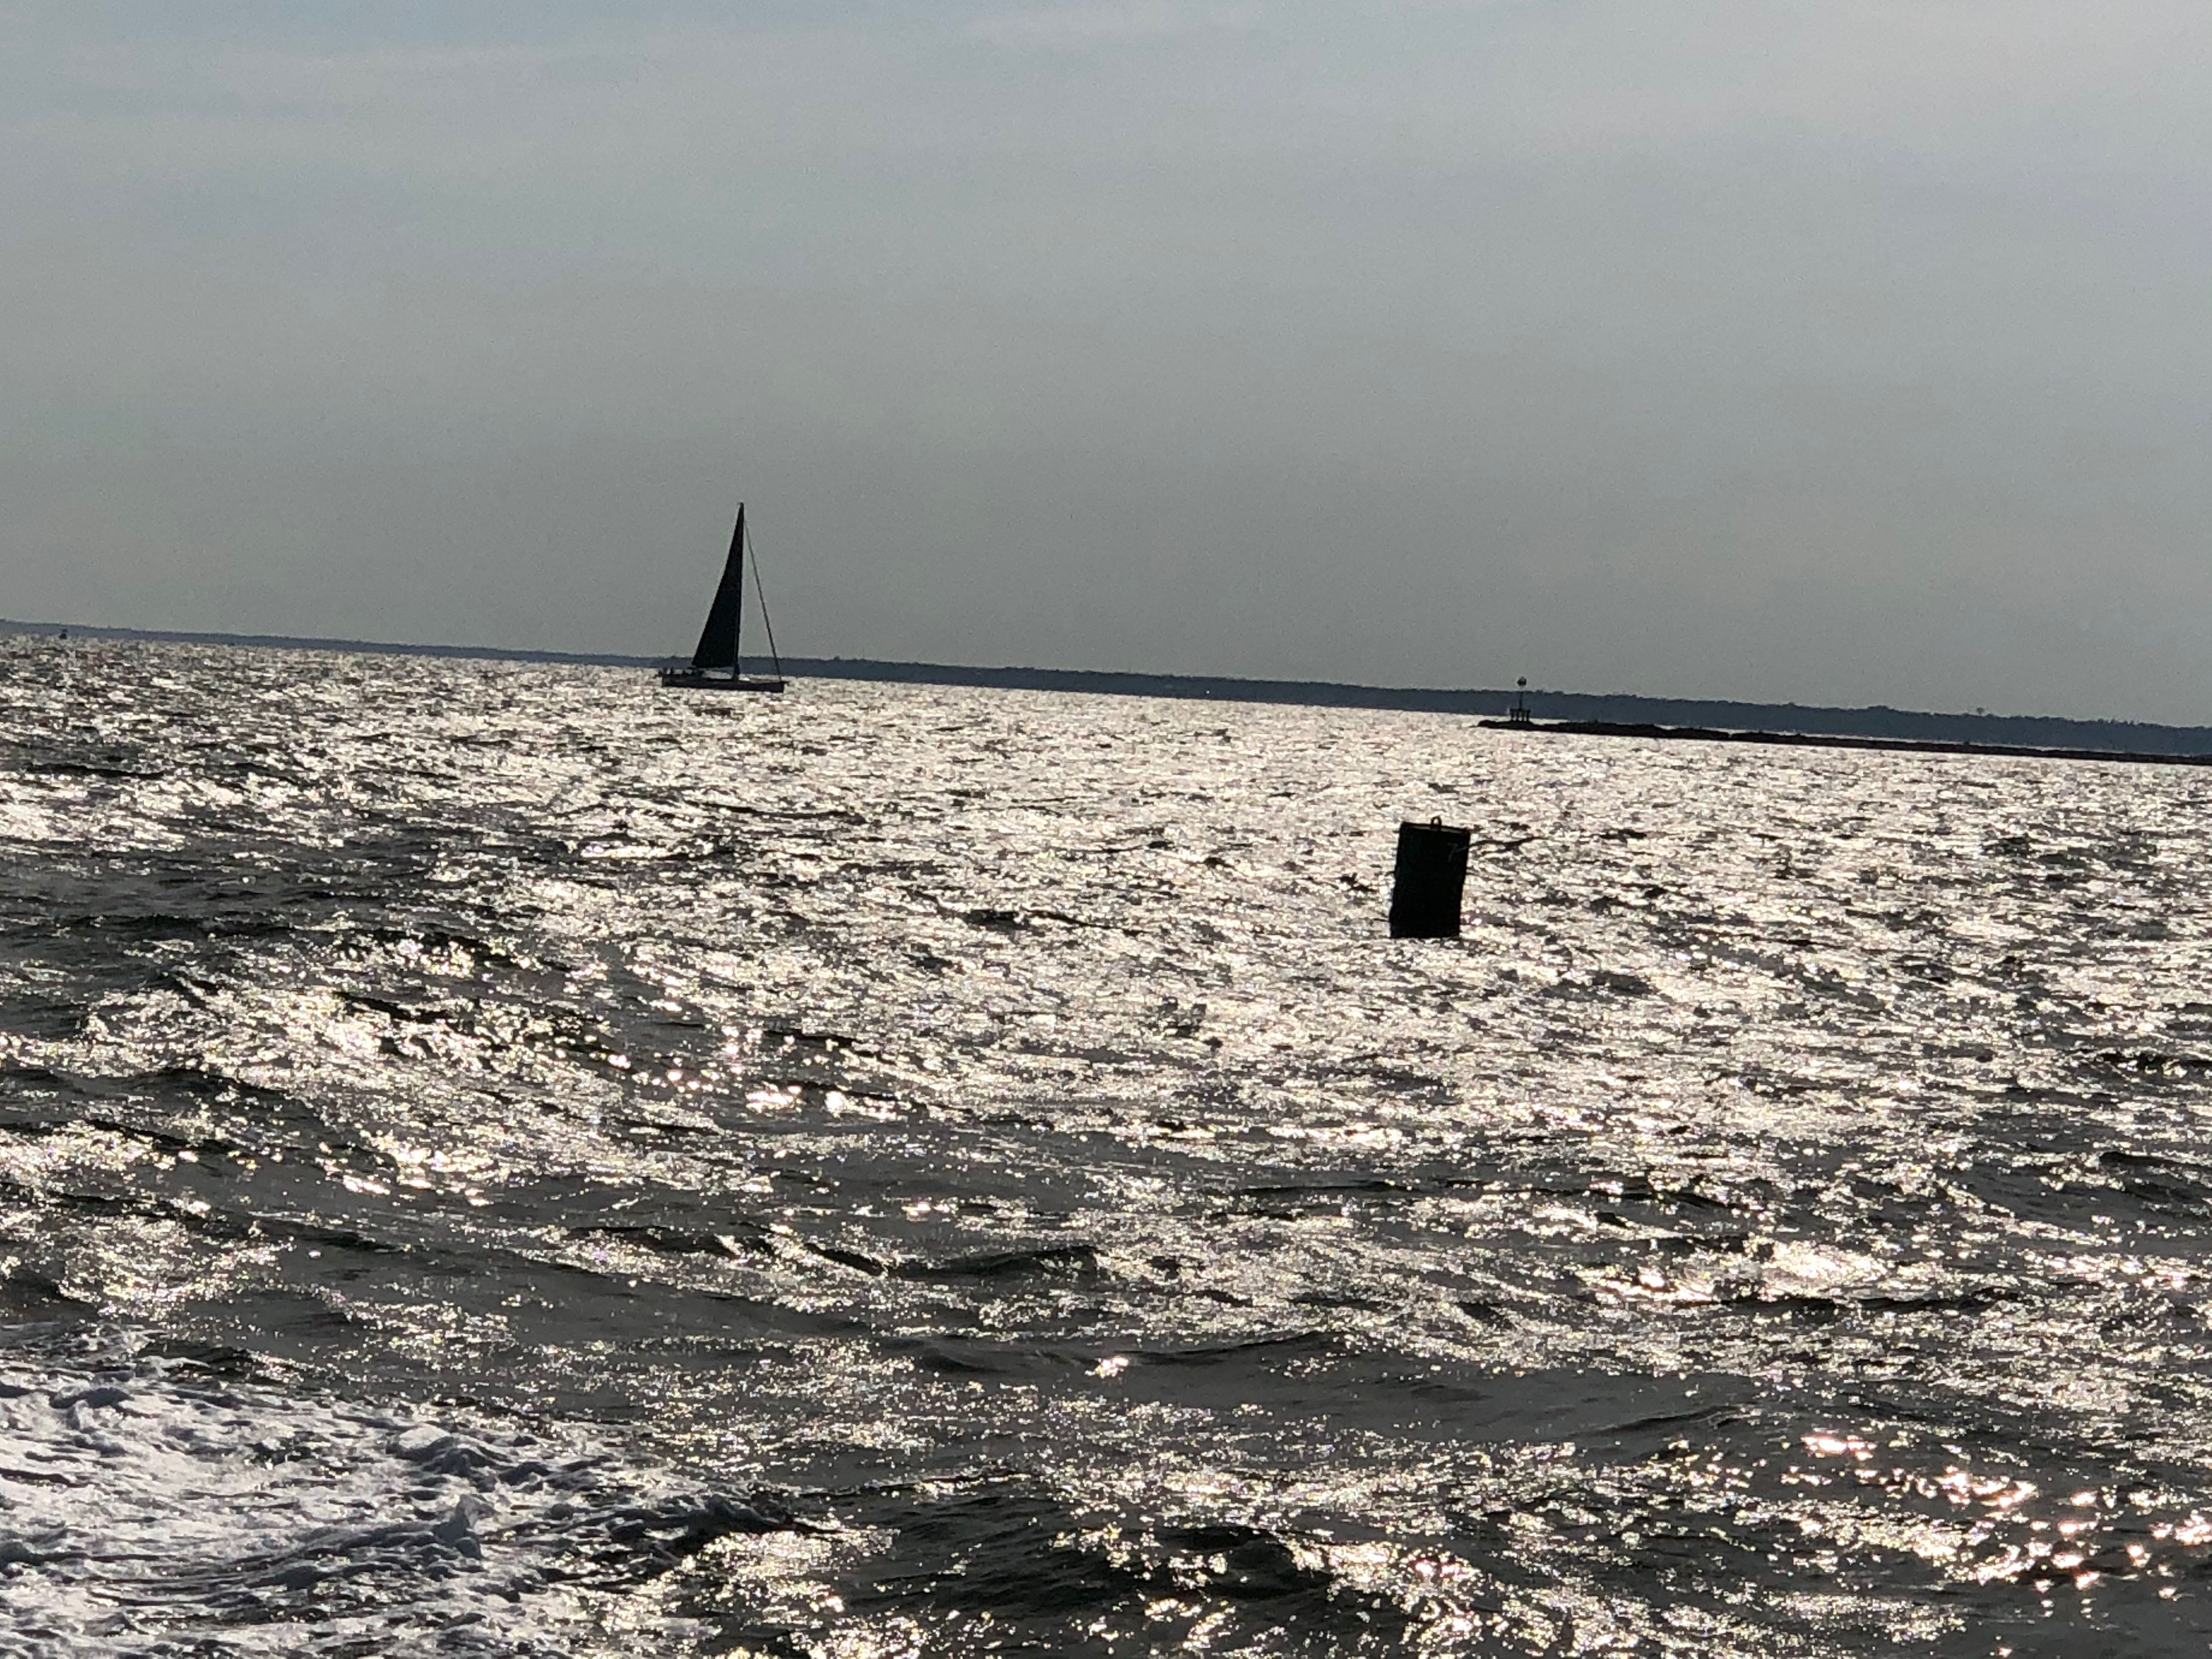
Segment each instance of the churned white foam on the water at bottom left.
[[[0,1360],[0,1655],[681,1655],[661,1542],[728,1500],[500,1433],[128,1360]],[[206,1648],[201,1648],[206,1644]]]

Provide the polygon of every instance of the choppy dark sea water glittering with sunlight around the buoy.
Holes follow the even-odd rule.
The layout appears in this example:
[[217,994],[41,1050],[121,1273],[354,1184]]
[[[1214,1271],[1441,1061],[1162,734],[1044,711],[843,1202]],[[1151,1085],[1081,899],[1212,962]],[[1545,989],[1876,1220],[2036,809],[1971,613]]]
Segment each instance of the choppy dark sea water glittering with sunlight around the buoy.
[[2208,785],[0,641],[0,1655],[2205,1652]]

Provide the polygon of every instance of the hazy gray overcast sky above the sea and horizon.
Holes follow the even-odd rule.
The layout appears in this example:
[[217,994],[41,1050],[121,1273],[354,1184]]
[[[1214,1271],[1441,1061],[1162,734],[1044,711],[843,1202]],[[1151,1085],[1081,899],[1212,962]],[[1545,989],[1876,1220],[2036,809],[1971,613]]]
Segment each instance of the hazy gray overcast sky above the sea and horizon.
[[2212,721],[2205,0],[0,4],[0,615]]

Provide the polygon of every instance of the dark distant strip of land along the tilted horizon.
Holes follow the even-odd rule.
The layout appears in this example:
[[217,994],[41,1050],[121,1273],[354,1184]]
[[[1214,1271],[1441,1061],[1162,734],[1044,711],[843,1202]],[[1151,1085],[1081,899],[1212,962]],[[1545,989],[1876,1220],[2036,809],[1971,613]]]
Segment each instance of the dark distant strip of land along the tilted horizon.
[[[299,639],[254,633],[181,633],[168,628],[88,628],[73,622],[9,622],[0,635],[82,635],[86,639],[175,639],[201,646],[270,646],[276,650],[358,650],[394,657],[491,657],[602,668],[657,668],[670,657],[615,657],[582,650],[502,650],[495,646],[405,646],[380,639]],[[1502,714],[1511,690],[1444,690],[1425,686],[1340,686],[1325,679],[1230,679],[1217,675],[1126,675],[1093,668],[969,668],[867,657],[785,657],[783,672],[810,679],[885,679],[909,686],[998,686],[1009,690],[1106,692],[1115,697],[1183,697],[1221,703],[1310,703],[1314,708],[1407,708],[1431,714]],[[2212,754],[2212,726],[2150,721],[2077,721],[2046,714],[1936,714],[1911,708],[1818,708],[1809,703],[1732,703],[1692,697],[1626,697],[1617,692],[1528,690],[1528,712],[1546,721],[1617,726],[1708,726],[1734,732],[1803,732],[1807,737],[1887,737],[1924,743],[1997,748],[2115,750],[2132,754]]]

